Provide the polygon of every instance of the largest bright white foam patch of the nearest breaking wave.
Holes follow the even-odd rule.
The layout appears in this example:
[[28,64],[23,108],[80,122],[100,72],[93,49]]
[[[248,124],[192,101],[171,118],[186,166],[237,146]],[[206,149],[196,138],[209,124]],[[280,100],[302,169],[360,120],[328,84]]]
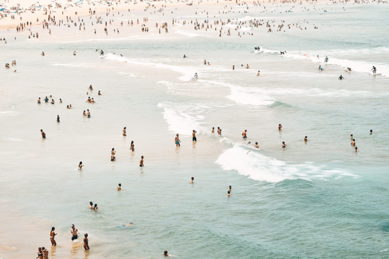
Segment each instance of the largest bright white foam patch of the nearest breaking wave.
[[224,170],[236,170],[240,175],[256,181],[280,182],[286,179],[328,180],[333,177],[358,177],[341,169],[327,169],[312,163],[294,164],[266,157],[257,150],[249,150],[239,145],[225,150],[215,161]]

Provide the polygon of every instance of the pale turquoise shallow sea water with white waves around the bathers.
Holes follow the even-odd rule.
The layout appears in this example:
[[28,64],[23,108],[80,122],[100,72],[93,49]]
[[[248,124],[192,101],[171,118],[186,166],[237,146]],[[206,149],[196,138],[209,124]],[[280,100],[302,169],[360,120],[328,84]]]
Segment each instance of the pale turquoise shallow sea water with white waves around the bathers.
[[[2,242],[16,249],[3,257],[49,247],[52,226],[59,233],[59,246],[50,250],[55,258],[159,258],[165,249],[180,258],[387,257],[388,8],[323,8],[328,12],[280,13],[285,9],[278,7],[266,14],[306,19],[307,31],[253,29],[253,36],[219,38],[171,29],[162,40],[9,44],[0,59],[16,59],[18,72],[3,71],[0,90],[1,226]],[[250,52],[254,46],[264,51]],[[241,68],[247,63],[250,69]],[[378,75],[369,74],[371,64]],[[191,79],[195,72],[198,80]],[[337,80],[340,74],[346,80]],[[89,84],[94,105],[85,103]],[[64,103],[36,105],[50,94]],[[72,110],[65,109],[69,103]],[[92,118],[82,116],[85,109]],[[223,137],[212,135],[212,126]],[[192,129],[199,132],[196,144]],[[245,129],[259,150],[242,141]],[[115,191],[119,182],[126,191]],[[90,211],[89,201],[100,211]],[[129,222],[134,225],[116,227]],[[88,232],[89,253],[68,241],[71,224]],[[37,230],[26,231],[29,225]],[[20,235],[26,236],[16,241]]]

